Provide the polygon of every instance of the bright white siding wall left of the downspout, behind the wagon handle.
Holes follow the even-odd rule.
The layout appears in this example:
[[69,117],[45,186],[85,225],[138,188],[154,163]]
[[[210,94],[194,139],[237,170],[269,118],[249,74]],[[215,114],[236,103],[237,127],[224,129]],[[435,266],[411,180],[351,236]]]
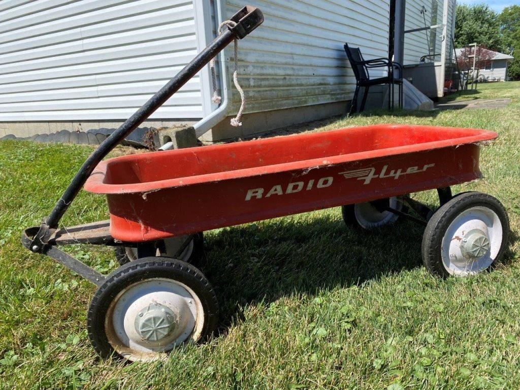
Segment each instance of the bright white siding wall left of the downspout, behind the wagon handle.
[[[0,121],[126,119],[197,54],[187,0],[2,0]],[[151,118],[203,116],[194,77]]]

